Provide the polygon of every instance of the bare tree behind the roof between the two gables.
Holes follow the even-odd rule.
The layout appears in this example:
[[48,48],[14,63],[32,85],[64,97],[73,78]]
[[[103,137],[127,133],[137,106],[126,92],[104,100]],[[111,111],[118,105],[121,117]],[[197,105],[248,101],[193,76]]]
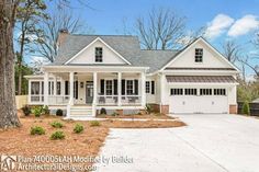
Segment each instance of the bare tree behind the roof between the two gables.
[[183,37],[185,18],[169,9],[153,9],[147,18],[136,20],[135,30],[142,46],[147,49],[172,49]]

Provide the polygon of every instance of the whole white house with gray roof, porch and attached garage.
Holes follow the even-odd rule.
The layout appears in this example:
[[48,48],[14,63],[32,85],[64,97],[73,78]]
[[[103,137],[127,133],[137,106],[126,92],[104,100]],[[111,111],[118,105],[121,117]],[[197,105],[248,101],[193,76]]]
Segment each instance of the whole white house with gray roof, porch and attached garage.
[[202,37],[179,51],[144,50],[136,36],[63,32],[58,46],[43,76],[26,76],[30,105],[71,118],[146,104],[165,114],[237,112],[238,69]]

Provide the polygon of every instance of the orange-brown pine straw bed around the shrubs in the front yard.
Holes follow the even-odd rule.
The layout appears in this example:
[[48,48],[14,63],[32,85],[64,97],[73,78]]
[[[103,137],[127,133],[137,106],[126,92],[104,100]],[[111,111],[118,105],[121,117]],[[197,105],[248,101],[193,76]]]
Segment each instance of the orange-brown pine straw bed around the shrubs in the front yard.
[[[40,118],[20,116],[20,121],[22,123],[20,128],[0,130],[0,154],[23,157],[42,154],[95,157],[103,146],[109,128],[160,128],[185,125],[182,122],[172,121],[122,122],[108,119],[99,122],[100,126],[91,127],[89,122],[63,121],[56,116]],[[61,122],[65,127],[58,129],[52,127],[50,123],[54,121]],[[76,124],[85,126],[82,134],[74,134],[72,130]],[[32,126],[44,127],[46,134],[42,136],[30,135]],[[63,130],[66,138],[63,140],[50,140],[50,135],[56,130]]]

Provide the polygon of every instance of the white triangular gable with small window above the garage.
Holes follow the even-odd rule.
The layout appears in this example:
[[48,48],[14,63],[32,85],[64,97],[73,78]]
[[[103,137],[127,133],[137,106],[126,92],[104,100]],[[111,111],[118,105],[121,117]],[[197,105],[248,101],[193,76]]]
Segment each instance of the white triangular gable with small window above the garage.
[[[195,48],[203,49],[203,61],[195,62]],[[216,49],[214,49],[203,38],[199,38],[193,45],[180,53],[172,59],[167,68],[234,68],[236,67],[227,61]]]

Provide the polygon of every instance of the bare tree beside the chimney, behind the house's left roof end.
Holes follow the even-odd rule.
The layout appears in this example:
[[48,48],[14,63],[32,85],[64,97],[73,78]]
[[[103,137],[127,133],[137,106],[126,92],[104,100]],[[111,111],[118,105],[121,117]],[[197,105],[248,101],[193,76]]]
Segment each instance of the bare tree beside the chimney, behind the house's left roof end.
[[56,12],[52,13],[49,18],[49,20],[43,20],[41,25],[43,32],[37,33],[35,50],[36,56],[42,56],[49,62],[53,62],[57,55],[57,39],[60,30],[67,30],[69,33],[93,32],[91,27],[83,24],[79,16],[75,16],[71,9],[68,8],[57,8]]

